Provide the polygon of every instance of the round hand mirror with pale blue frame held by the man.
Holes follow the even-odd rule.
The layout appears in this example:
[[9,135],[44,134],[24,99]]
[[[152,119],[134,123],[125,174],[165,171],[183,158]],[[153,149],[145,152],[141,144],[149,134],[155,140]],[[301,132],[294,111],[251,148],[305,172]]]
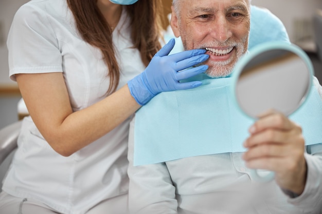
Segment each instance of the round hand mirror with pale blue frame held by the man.
[[[312,79],[313,66],[302,49],[270,42],[241,57],[232,73],[232,92],[240,110],[253,119],[268,110],[288,116],[305,102]],[[251,173],[258,181],[274,178],[273,172],[265,177],[255,169]]]

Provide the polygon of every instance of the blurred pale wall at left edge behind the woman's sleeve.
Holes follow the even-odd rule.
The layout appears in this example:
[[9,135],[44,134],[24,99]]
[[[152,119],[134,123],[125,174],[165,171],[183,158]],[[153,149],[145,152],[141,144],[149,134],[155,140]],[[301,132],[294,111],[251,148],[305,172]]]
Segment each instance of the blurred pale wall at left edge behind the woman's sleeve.
[[0,84],[15,85],[9,80],[7,35],[13,16],[19,7],[29,0],[0,0]]

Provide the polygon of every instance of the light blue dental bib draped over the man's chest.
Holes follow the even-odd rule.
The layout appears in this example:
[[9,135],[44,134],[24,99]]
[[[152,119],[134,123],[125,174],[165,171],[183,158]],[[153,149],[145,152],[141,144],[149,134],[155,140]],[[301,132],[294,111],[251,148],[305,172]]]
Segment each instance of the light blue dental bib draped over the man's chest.
[[[246,150],[242,144],[255,120],[231,97],[232,78],[199,77],[202,86],[160,93],[136,112],[135,166]],[[289,118],[301,125],[306,145],[322,143],[322,101],[314,86]]]

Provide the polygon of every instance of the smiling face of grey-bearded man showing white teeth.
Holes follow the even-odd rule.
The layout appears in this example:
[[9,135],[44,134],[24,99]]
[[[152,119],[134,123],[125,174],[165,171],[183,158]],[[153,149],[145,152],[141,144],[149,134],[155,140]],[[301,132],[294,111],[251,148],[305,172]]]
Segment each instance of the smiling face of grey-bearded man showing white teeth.
[[228,76],[247,51],[248,0],[174,0],[171,27],[185,50],[206,49],[211,77]]

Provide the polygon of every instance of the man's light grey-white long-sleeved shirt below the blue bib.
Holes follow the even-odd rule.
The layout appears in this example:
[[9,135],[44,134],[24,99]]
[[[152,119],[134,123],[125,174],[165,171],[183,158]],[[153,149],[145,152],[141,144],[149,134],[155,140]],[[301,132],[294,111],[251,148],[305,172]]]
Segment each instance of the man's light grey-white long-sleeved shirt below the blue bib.
[[[322,96],[316,80],[315,85]],[[133,166],[133,144],[134,120],[128,154],[132,213],[322,213],[322,144],[306,147],[307,183],[296,198],[285,194],[275,181],[255,182],[242,152]]]

